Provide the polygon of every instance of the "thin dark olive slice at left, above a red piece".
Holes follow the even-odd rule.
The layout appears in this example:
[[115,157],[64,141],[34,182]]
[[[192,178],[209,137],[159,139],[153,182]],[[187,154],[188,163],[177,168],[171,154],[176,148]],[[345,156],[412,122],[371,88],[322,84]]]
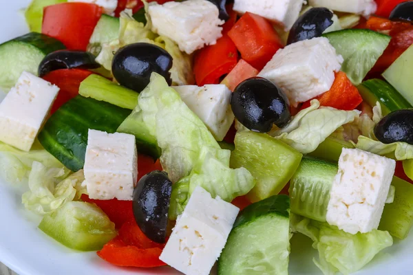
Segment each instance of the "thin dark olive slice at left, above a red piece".
[[47,54],[39,65],[39,76],[44,76],[56,69],[97,69],[100,67],[90,52],[61,50]]

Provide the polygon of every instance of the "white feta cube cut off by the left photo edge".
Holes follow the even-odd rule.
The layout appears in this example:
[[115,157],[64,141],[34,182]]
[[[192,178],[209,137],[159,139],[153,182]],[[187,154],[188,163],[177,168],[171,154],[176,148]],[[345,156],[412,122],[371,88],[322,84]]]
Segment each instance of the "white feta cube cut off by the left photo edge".
[[0,104],[0,141],[30,151],[59,87],[28,72]]

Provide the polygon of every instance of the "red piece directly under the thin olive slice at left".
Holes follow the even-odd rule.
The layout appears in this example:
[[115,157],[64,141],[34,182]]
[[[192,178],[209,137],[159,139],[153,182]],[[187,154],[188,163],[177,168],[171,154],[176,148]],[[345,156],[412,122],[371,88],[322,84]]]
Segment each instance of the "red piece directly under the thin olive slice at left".
[[43,76],[43,79],[60,88],[50,113],[54,113],[63,104],[79,94],[81,82],[93,74],[85,69],[56,69]]

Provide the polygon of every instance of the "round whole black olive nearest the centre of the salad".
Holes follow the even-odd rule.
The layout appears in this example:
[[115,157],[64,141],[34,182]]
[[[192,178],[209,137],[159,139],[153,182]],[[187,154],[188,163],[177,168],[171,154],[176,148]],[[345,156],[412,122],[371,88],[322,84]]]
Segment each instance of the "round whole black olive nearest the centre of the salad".
[[290,104],[270,80],[253,77],[244,80],[234,90],[231,108],[246,128],[266,133],[273,124],[283,127],[291,118]]

